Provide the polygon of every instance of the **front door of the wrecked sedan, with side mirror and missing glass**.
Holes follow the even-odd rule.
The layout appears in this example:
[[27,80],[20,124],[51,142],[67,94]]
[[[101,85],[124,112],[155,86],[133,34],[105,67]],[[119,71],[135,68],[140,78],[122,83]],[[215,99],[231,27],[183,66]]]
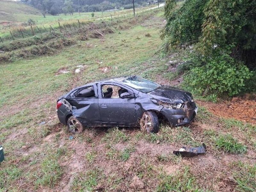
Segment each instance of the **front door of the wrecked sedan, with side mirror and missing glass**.
[[[133,98],[120,98],[116,96],[119,90],[115,91],[110,98],[104,98],[103,87],[114,87],[117,89],[125,89],[130,94],[134,96],[134,93],[131,89],[124,87],[120,84],[115,83],[101,83],[98,84],[98,95],[99,95],[99,109],[101,122],[106,124],[125,124],[125,125],[134,125],[136,124],[136,109],[135,109],[135,99]],[[106,94],[107,95],[107,94]]]

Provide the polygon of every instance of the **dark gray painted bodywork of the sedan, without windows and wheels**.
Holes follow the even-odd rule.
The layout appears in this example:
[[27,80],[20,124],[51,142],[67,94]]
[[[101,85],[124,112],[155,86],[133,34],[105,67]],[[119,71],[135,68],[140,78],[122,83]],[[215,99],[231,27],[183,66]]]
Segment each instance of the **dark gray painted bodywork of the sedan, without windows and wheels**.
[[[117,85],[134,95],[134,98],[103,98],[101,85]],[[95,98],[74,98],[74,93],[85,87],[93,86]],[[73,115],[84,126],[139,126],[142,114],[147,110],[161,113],[172,125],[177,124],[179,118],[184,118],[185,123],[194,118],[194,108],[188,109],[168,109],[159,104],[159,101],[166,103],[186,103],[193,100],[189,92],[179,90],[170,86],[161,86],[158,89],[143,93],[113,79],[86,84],[77,87],[60,99],[66,99],[71,105],[72,110],[61,105],[57,110],[60,122],[67,124],[69,116]],[[184,124],[184,123],[183,123]]]

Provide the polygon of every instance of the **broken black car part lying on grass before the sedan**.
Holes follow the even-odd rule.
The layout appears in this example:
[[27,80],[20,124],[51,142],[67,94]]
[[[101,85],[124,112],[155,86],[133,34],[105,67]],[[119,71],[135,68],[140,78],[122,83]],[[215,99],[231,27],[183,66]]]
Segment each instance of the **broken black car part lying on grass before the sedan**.
[[183,156],[183,157],[193,157],[196,155],[202,155],[206,152],[206,145],[203,143],[202,146],[195,148],[186,148],[182,147],[179,151],[173,151],[174,155]]

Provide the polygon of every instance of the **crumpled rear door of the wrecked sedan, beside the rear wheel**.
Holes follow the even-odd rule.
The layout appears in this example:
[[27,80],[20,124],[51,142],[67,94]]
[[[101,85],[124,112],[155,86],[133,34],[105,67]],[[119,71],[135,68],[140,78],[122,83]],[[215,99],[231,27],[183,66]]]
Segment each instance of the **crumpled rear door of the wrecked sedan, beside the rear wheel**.
[[94,125],[94,123],[100,122],[98,92],[96,85],[78,89],[71,95],[70,98],[66,98],[66,100],[72,106],[73,116],[78,118],[81,123],[86,123],[86,125]]

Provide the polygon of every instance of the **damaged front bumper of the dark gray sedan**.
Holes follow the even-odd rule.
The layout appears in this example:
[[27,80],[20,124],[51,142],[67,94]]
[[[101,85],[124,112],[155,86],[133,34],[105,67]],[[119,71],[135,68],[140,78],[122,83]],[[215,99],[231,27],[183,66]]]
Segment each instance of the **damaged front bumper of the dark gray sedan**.
[[197,107],[185,109],[163,108],[161,113],[168,119],[172,126],[182,126],[191,123],[196,116]]

